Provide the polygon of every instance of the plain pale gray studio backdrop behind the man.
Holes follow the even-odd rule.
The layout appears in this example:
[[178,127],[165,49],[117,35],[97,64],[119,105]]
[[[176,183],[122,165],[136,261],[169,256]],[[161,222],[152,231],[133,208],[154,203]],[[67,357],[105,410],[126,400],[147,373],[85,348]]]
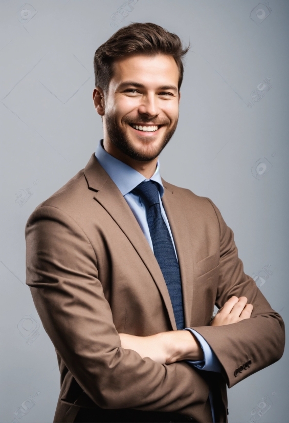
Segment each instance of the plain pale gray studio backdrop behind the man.
[[[286,325],[289,2],[0,6],[1,422],[53,420],[59,371],[25,285],[24,228],[95,151],[102,124],[92,101],[93,56],[130,22],[153,22],[191,42],[179,125],[160,156],[161,175],[215,202],[246,273]],[[288,391],[286,349],[280,361],[228,390],[229,421],[289,421]]]

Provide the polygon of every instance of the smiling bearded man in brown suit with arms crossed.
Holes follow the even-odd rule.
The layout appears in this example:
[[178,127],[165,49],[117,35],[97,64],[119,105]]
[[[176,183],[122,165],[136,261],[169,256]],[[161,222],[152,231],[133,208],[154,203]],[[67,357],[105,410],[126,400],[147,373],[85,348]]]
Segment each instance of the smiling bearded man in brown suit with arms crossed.
[[27,222],[27,284],[61,374],[54,422],[227,422],[226,384],[283,354],[284,322],[217,207],[160,176],[187,50],[138,23],[98,48],[103,139]]

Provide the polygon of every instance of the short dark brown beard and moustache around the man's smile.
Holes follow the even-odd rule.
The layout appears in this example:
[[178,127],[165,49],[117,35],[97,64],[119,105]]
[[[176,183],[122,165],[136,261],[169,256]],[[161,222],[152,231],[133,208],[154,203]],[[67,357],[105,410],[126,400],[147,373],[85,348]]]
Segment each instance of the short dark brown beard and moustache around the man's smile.
[[[139,120],[145,123],[145,119],[142,118]],[[112,143],[126,156],[130,157],[131,159],[140,160],[140,161],[150,161],[160,155],[160,153],[163,151],[163,149],[165,148],[165,146],[167,145],[167,143],[173,136],[176,130],[178,120],[179,118],[176,120],[173,127],[163,135],[163,138],[160,141],[160,144],[158,145],[158,147],[154,149],[154,151],[142,152],[142,151],[139,151],[134,146],[134,143],[129,139],[129,136],[125,134],[125,131],[121,128],[121,126],[117,122],[116,115],[105,114],[106,130],[107,130],[107,134],[109,136],[110,141],[112,141]],[[136,121],[137,119],[134,119],[133,121],[129,118],[123,119],[123,122],[127,124],[134,123]],[[153,119],[150,119],[147,121],[152,122]],[[166,120],[163,122],[159,122],[159,124],[168,125],[169,121]],[[149,142],[151,141],[148,140],[147,137],[144,137],[144,143],[149,143]]]

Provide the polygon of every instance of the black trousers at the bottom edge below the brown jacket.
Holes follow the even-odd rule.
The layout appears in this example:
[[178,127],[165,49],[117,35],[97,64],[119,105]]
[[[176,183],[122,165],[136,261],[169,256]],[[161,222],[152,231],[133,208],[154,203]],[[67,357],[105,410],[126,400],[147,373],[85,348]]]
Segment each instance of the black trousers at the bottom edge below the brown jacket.
[[186,417],[179,413],[161,411],[142,411],[132,409],[107,410],[98,408],[81,408],[74,420],[75,423],[138,423],[138,422],[195,422],[192,417]]

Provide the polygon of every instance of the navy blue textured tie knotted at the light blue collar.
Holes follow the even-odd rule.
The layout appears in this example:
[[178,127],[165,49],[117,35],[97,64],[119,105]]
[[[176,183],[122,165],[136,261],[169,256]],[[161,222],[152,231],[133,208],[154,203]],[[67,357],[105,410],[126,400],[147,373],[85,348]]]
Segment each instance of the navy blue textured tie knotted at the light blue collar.
[[180,267],[175,257],[173,243],[161,213],[157,182],[141,182],[132,190],[148,205],[147,223],[154,256],[162,270],[169,291],[176,327],[184,329],[184,311]]

